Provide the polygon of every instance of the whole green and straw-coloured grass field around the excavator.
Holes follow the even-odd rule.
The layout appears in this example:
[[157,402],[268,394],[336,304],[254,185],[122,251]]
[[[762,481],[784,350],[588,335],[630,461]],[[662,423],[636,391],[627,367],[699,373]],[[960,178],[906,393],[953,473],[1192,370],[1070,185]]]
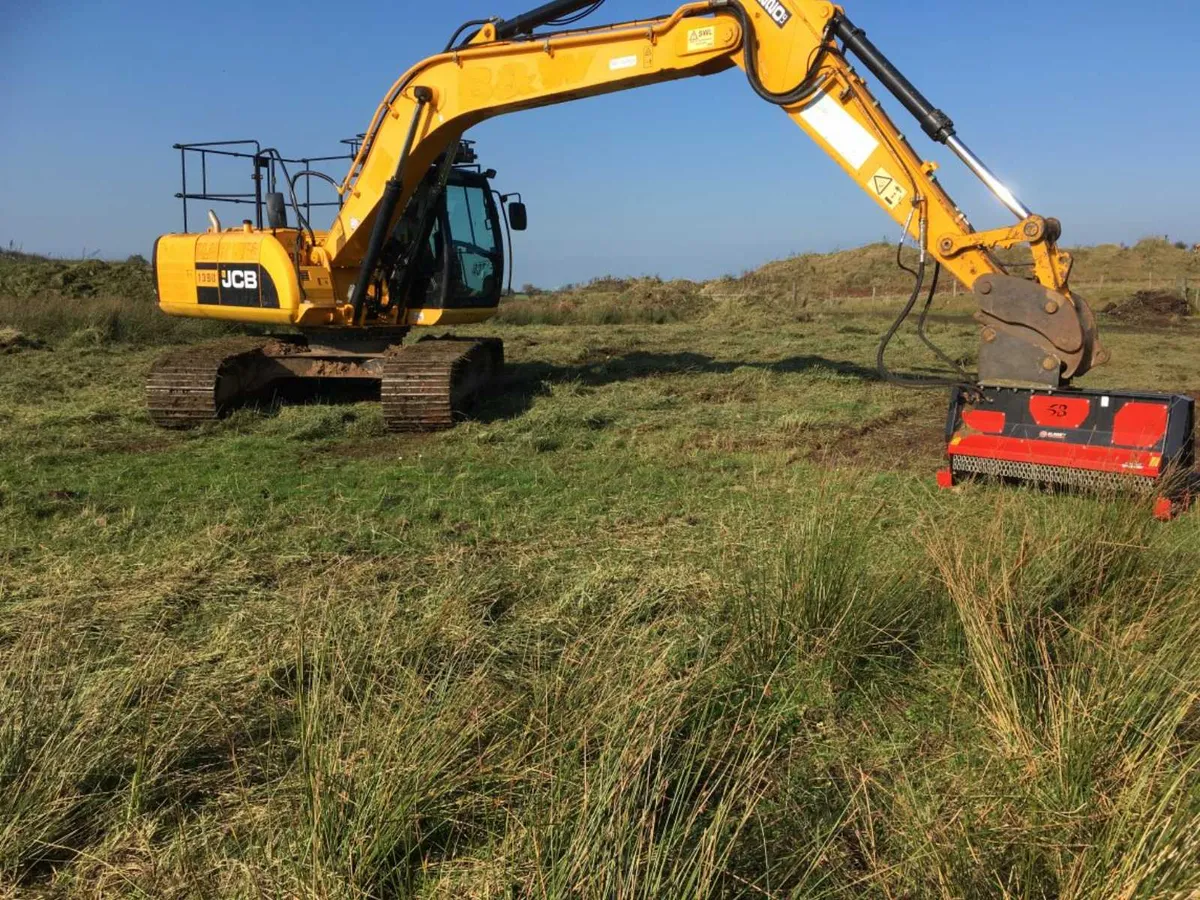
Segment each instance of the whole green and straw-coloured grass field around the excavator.
[[[156,431],[205,329],[32,302],[0,895],[1200,895],[1200,518],[938,491],[882,301],[476,329],[504,385],[421,437],[346,397]],[[1088,384],[1200,392],[1198,337],[1110,328]]]

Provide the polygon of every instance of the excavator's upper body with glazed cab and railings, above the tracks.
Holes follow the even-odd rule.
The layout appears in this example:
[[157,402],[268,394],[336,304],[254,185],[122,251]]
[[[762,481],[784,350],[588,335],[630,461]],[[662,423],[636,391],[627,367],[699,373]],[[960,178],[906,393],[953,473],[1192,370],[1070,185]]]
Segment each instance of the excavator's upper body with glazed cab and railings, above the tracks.
[[[343,143],[358,151],[356,139]],[[241,310],[257,306],[271,311],[256,314],[256,320],[262,324],[300,329],[349,325],[322,320],[325,310],[336,304],[346,288],[335,286],[320,274],[306,274],[298,266],[296,252],[288,252],[287,247],[304,242],[306,238],[308,244],[324,238],[324,233],[313,230],[312,222],[326,215],[326,208],[341,209],[344,197],[341,192],[335,197],[320,196],[320,182],[334,187],[338,185],[322,166],[336,170],[353,161],[354,152],[287,158],[275,150],[263,149],[258,142],[175,146],[180,150],[184,175],[182,190],[176,194],[184,203],[184,234],[193,233],[188,228],[188,202],[200,200],[215,206],[216,211],[209,211],[205,224],[209,226],[209,234],[220,238],[204,238],[199,244],[193,240],[181,247],[176,245],[174,251],[178,252],[173,251],[169,259],[164,258],[168,271],[162,272],[164,289],[160,292],[163,310],[173,314],[193,314],[197,306],[209,306],[216,307],[205,311],[209,317],[241,320]],[[480,322],[490,318],[499,306],[505,278],[511,282],[508,274],[512,265],[511,232],[524,230],[527,224],[524,205],[515,202],[505,209],[504,202],[509,198],[493,188],[496,172],[479,164],[473,142],[462,140],[450,152],[454,158],[443,156],[430,168],[392,228],[378,266],[378,288],[385,284],[386,292],[371,292],[365,310],[355,317],[353,324],[356,328],[395,329]],[[229,179],[230,164],[240,168],[247,162],[253,193],[238,192],[236,182]],[[216,188],[215,181],[220,182]],[[520,198],[520,194],[512,197]],[[234,210],[239,206],[242,210],[253,208],[254,217],[245,220],[250,232],[221,228],[217,212],[224,217],[230,205]],[[262,244],[270,244],[265,240],[268,235],[280,239],[282,246],[271,245],[270,250],[282,250],[282,253],[264,252]],[[229,245],[226,251],[238,262],[257,263],[252,282],[269,286],[270,296],[264,300],[262,292],[256,296],[227,292],[228,295],[218,294],[212,302],[202,299],[196,290],[199,282],[192,272],[208,265],[210,256],[221,262],[226,251],[216,250],[214,256],[205,250],[206,245],[218,240]],[[235,242],[246,246],[234,250]],[[269,258],[271,256],[278,259]],[[226,268],[233,269],[232,265]],[[300,277],[295,278],[292,272],[298,268]],[[240,283],[251,283],[247,281],[247,266],[238,271]],[[218,272],[218,284],[221,277],[223,274]],[[328,300],[320,296],[326,284],[330,288]]]

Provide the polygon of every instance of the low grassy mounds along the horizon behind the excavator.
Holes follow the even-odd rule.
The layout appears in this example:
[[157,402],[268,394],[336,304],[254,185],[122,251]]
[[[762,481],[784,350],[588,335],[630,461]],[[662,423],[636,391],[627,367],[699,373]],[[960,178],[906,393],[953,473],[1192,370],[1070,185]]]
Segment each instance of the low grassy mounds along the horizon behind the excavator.
[[[1074,288],[1099,306],[1123,302],[1156,284],[1159,289],[1165,286],[1188,292],[1187,296],[1180,294],[1184,305],[1200,295],[1200,254],[1164,240],[1145,240],[1134,247],[1081,247],[1072,252]],[[1019,253],[1002,256],[1012,260],[1021,258]],[[502,302],[498,322],[785,324],[836,316],[846,308],[865,308],[872,299],[881,310],[894,308],[911,287],[911,276],[896,268],[895,246],[881,242],[835,253],[805,253],[709,282],[604,277],[554,292],[528,290]],[[947,308],[950,294],[965,292],[952,278],[943,277],[940,308]],[[964,296],[954,308],[968,312],[970,300]],[[1116,319],[1127,324],[1164,324],[1162,316],[1110,308]],[[140,257],[119,263],[68,262],[11,251],[0,251],[0,326],[17,329],[32,341],[52,343],[187,341],[228,331],[216,323],[170,320],[161,316],[154,306],[150,266]]]

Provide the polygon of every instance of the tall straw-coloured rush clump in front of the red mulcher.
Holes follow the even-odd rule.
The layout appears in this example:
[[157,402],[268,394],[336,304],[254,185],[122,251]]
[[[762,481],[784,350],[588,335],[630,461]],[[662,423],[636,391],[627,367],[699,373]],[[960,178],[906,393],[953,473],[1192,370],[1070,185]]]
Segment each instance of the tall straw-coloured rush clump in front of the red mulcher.
[[[1153,552],[1146,510],[1091,514],[1048,533],[1009,505],[978,541],[929,538],[984,725],[971,769],[991,786],[994,836],[964,840],[992,854],[1007,895],[1184,896],[1200,864],[1200,581]],[[966,866],[952,854],[943,876]]]

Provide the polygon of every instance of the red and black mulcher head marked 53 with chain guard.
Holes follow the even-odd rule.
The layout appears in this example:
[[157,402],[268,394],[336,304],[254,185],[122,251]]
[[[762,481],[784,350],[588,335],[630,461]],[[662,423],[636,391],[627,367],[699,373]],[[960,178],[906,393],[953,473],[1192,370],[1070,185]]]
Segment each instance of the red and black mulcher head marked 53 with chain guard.
[[958,388],[946,424],[949,468],[937,481],[1135,491],[1171,518],[1194,490],[1194,401],[1177,395]]

